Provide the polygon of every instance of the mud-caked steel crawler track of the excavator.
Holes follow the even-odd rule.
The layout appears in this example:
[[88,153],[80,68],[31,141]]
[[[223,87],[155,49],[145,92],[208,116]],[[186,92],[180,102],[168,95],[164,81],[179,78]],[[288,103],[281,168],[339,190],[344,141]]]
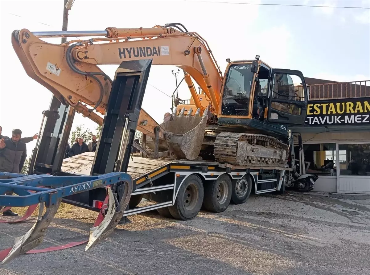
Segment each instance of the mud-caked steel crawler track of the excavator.
[[220,133],[214,149],[216,161],[240,166],[284,167],[288,145],[260,134]]

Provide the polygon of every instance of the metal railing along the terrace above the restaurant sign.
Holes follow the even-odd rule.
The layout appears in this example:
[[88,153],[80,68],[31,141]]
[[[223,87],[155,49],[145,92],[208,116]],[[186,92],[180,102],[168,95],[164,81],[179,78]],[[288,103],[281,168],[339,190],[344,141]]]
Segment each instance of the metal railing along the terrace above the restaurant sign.
[[370,80],[308,85],[307,91],[309,100],[370,97]]

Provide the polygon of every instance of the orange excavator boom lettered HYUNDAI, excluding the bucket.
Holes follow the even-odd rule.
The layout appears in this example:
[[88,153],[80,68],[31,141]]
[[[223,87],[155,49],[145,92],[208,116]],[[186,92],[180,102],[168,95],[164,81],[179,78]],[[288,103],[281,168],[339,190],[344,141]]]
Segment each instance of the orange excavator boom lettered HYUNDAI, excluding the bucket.
[[[22,29],[13,32],[12,44],[28,76],[48,88],[62,103],[99,124],[100,116],[85,104],[104,114],[112,80],[97,65],[119,65],[122,61],[145,58],[152,58],[155,65],[174,65],[186,71],[211,99],[211,109],[217,115],[222,74],[198,34],[160,26],[105,31],[106,38],[51,44],[38,36],[52,35]],[[195,89],[191,93],[195,98]],[[199,104],[196,101],[196,108],[203,111]]]

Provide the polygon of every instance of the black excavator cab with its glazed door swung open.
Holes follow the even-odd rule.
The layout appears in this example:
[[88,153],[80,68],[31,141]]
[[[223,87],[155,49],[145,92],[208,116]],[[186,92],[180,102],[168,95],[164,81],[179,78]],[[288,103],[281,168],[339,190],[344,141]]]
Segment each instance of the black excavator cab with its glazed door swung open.
[[303,74],[273,69],[259,56],[229,62],[221,97],[219,125],[283,134],[288,126],[305,123],[307,89]]

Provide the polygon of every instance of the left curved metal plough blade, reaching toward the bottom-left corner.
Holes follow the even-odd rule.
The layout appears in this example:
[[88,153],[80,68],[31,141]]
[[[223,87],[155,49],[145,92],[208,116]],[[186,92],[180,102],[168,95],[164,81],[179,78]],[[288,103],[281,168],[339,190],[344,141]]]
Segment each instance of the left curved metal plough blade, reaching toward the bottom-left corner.
[[61,199],[58,199],[56,204],[47,207],[44,215],[43,212],[45,203],[43,202],[39,204],[38,215],[33,227],[31,227],[26,234],[15,239],[13,247],[10,249],[8,255],[3,259],[1,264],[6,264],[11,259],[25,254],[41,244],[44,239],[46,229],[50,225],[54,215],[57,213],[61,201]]

